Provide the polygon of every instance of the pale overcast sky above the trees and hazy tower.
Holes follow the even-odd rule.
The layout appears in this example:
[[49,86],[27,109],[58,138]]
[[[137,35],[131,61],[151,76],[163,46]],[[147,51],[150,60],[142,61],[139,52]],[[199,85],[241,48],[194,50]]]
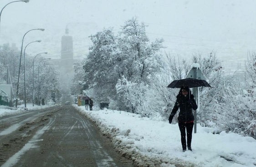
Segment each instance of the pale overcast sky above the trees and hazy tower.
[[[0,8],[11,1],[13,0],[0,0]],[[246,58],[248,51],[256,51],[255,6],[255,0],[15,2],[6,6],[2,12],[0,44],[14,42],[20,48],[22,36],[27,30],[45,28],[44,32],[34,31],[28,34],[25,43],[41,38],[42,51],[48,49],[52,55],[58,55],[61,35],[64,35],[67,26],[74,39],[74,51],[79,50],[77,54],[81,55],[82,52],[87,52],[90,45],[88,35],[111,26],[118,31],[126,20],[137,16],[140,22],[148,25],[146,31],[149,38],[164,38],[164,45],[167,47],[165,51],[174,56],[205,55],[216,51],[220,58],[237,60]],[[79,26],[85,31],[74,32]],[[87,42],[81,45],[82,40]],[[57,44],[54,48],[47,48],[46,42]],[[40,45],[37,45],[35,48],[38,50]],[[31,54],[34,52],[36,51],[31,49]]]

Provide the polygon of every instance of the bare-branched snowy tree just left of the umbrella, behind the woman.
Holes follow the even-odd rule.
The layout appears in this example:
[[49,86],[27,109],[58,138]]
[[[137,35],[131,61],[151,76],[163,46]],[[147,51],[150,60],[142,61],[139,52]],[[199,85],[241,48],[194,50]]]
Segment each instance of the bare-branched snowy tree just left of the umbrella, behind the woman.
[[179,89],[168,88],[167,86],[174,80],[185,78],[189,68],[189,63],[185,59],[179,59],[179,56],[175,57],[165,53],[161,72],[152,78],[152,84],[146,92],[145,98],[152,94],[147,98],[148,111],[157,111],[164,118],[169,117]]

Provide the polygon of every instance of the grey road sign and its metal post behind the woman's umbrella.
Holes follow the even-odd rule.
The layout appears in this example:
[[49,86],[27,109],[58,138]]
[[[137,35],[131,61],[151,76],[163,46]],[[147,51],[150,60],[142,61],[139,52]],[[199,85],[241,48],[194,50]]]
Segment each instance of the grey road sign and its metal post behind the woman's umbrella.
[[[205,77],[203,76],[203,73],[200,70],[200,64],[194,63],[192,64],[192,69],[189,71],[189,74],[187,75],[186,78],[194,78],[194,79],[200,79],[200,80],[205,80]],[[193,87],[192,88],[192,93],[195,97],[195,101],[197,104],[197,110],[200,111],[200,95],[199,95],[199,88],[198,87]],[[194,112],[194,133],[196,133],[196,123],[197,123],[197,110]]]

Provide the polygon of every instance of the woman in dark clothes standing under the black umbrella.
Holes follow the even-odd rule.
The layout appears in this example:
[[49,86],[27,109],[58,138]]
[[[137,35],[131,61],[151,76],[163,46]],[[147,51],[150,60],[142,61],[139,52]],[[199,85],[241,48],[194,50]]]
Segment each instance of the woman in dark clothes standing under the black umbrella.
[[[192,132],[194,126],[194,115],[193,110],[197,109],[197,105],[194,99],[194,96],[191,94],[191,91],[188,87],[181,87],[179,94],[177,95],[177,100],[174,104],[174,108],[169,116],[169,123],[172,123],[173,117],[179,109],[179,131],[181,136],[181,145],[182,150],[185,152],[187,150],[192,151],[191,141],[192,141]],[[186,133],[187,131],[187,133]],[[186,141],[187,134],[187,141]]]

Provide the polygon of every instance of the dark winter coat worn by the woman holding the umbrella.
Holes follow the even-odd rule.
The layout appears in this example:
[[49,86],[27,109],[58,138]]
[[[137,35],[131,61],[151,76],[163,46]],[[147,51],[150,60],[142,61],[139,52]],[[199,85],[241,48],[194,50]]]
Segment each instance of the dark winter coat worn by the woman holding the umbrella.
[[[189,97],[190,94],[190,97]],[[183,96],[181,91],[179,92],[179,95],[177,96],[177,100],[174,104],[174,108],[169,116],[169,123],[172,122],[174,115],[179,109],[179,116],[178,121],[179,122],[193,122],[194,121],[194,115],[192,112],[193,110],[197,109],[197,105],[194,99],[194,96],[190,93],[187,96]],[[190,98],[190,99],[189,99]]]

